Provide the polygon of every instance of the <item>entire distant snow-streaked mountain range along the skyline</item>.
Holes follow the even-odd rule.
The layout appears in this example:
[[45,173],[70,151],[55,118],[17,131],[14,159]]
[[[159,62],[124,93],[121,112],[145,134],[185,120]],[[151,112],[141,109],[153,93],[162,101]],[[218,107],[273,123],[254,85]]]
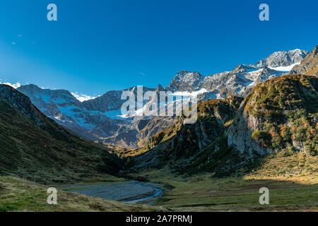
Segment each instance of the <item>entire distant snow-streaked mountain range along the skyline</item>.
[[[222,99],[231,95],[245,97],[252,88],[270,78],[281,76],[307,56],[305,50],[274,52],[255,64],[240,64],[232,71],[211,76],[199,72],[180,71],[166,88],[143,88],[143,93],[161,90],[178,95],[196,93],[199,101]],[[41,112],[54,119],[69,131],[90,141],[98,141],[123,148],[139,148],[151,136],[175,122],[175,117],[145,117],[121,113],[123,91],[129,90],[136,96],[136,87],[112,90],[91,100],[79,101],[67,90],[42,89],[36,85],[22,85],[17,88],[28,95]],[[146,105],[146,101],[144,102]],[[160,105],[160,102],[158,102]],[[141,112],[142,113],[142,112]]]

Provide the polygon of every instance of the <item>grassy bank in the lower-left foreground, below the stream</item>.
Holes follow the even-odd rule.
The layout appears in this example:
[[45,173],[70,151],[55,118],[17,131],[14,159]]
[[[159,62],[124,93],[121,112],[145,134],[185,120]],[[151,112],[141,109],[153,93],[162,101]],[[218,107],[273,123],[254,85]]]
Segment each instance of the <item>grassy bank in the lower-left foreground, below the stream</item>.
[[166,211],[166,208],[106,201],[58,190],[57,205],[47,204],[47,187],[15,177],[0,177],[0,212],[4,211]]

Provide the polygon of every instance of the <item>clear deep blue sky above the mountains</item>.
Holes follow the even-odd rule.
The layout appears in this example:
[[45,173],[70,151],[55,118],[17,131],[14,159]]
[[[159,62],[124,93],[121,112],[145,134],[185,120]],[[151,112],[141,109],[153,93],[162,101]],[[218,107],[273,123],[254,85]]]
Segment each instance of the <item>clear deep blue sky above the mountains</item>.
[[[47,20],[57,4],[58,20]],[[259,5],[269,4],[269,21]],[[318,44],[318,1],[28,0],[0,3],[0,80],[101,95],[168,85]]]

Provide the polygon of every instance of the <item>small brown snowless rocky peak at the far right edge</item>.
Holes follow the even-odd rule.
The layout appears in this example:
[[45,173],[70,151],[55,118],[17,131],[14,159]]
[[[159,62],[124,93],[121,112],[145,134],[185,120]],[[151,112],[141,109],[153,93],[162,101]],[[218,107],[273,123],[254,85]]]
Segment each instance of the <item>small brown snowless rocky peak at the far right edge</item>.
[[312,52],[299,65],[293,67],[290,74],[318,76],[318,45],[312,49]]

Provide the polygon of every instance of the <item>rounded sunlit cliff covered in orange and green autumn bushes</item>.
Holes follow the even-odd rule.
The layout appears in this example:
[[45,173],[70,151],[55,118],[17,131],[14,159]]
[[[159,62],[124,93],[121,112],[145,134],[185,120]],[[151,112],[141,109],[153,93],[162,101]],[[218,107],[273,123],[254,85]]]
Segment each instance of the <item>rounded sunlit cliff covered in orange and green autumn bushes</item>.
[[294,147],[317,152],[318,78],[282,76],[257,85],[227,131],[228,145],[248,155]]

